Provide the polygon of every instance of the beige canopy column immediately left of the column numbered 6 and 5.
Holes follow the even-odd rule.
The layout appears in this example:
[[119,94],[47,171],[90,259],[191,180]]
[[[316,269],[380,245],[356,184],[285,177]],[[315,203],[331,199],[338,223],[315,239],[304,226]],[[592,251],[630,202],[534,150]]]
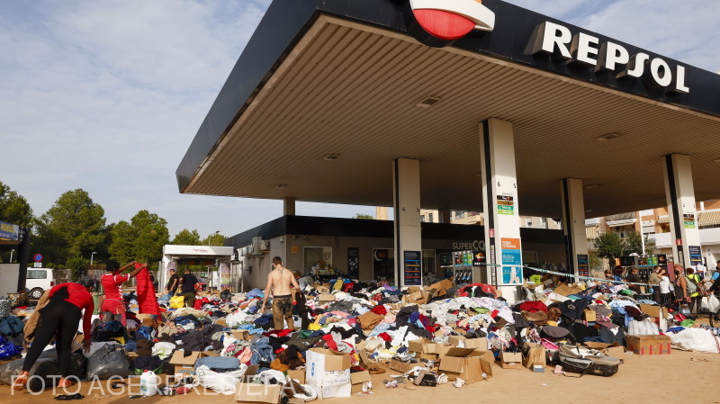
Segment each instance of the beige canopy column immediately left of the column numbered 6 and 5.
[[392,162],[392,209],[395,229],[395,284],[422,284],[420,235],[420,162],[398,158]]

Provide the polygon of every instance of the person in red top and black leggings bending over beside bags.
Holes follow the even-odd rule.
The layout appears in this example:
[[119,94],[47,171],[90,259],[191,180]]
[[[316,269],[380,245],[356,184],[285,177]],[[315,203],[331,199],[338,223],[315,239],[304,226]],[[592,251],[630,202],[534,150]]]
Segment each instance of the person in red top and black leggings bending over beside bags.
[[[25,355],[23,371],[13,383],[15,390],[25,388],[32,365],[38,360],[52,337],[55,337],[55,349],[58,351],[58,373],[61,376],[58,387],[67,387],[72,384],[67,376],[73,339],[80,319],[83,319],[85,352],[90,350],[90,320],[94,310],[93,295],[90,294],[90,291],[92,291],[94,283],[93,278],[84,275],[77,280],[77,283],[60,283],[50,289],[50,299],[48,304],[41,309],[40,326],[27,355]],[[85,314],[83,314],[83,310],[85,310]]]

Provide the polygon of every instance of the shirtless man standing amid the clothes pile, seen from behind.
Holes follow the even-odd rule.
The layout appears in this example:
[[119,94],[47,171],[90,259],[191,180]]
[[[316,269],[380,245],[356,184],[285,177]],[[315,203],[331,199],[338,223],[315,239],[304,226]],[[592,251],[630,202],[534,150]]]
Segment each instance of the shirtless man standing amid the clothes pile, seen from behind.
[[273,258],[273,271],[267,275],[267,286],[263,298],[263,310],[270,292],[273,293],[273,320],[275,329],[284,329],[284,321],[287,321],[287,328],[293,329],[293,294],[291,287],[300,289],[293,272],[283,266],[283,260],[279,256]]

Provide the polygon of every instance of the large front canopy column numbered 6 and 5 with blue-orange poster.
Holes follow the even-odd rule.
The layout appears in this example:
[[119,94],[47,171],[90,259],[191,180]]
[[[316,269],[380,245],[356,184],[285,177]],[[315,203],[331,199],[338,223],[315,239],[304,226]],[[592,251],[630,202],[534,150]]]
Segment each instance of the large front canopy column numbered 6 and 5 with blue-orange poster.
[[487,278],[508,301],[518,301],[523,279],[518,182],[512,123],[490,119],[480,125],[482,206]]

